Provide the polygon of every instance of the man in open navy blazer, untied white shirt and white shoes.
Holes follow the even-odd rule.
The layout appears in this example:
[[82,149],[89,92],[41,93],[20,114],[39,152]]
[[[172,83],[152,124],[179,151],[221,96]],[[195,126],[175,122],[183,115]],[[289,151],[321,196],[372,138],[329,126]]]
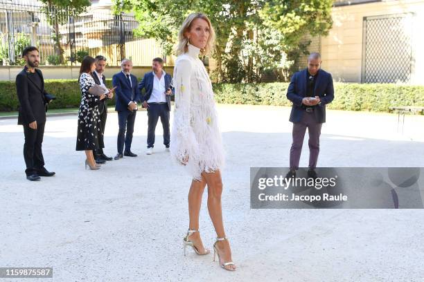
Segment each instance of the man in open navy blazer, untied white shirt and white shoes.
[[162,128],[164,129],[164,145],[166,151],[169,151],[170,131],[169,131],[169,116],[170,116],[170,95],[171,77],[164,71],[164,60],[154,58],[150,73],[146,73],[139,84],[140,92],[145,89],[145,95],[141,101],[143,107],[148,111],[148,150],[147,154],[151,155],[154,147],[154,130],[156,129],[157,121],[161,118]]

